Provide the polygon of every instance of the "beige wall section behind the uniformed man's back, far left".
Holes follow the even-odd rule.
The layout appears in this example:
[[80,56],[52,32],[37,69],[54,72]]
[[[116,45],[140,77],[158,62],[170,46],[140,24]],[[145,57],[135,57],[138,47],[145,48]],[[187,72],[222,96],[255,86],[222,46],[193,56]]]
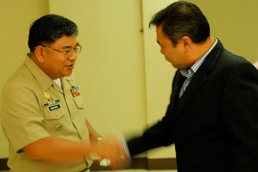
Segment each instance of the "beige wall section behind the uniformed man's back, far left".
[[[0,92],[5,81],[22,64],[25,54],[29,52],[27,45],[29,25],[48,13],[46,0],[0,1]],[[6,157],[8,157],[8,141],[0,126],[0,158]]]

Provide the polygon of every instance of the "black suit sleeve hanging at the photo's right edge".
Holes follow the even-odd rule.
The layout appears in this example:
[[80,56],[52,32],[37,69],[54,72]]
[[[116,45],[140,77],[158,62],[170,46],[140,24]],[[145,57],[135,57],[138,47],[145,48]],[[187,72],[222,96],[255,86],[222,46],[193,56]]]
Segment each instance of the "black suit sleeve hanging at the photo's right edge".
[[258,71],[251,63],[239,63],[231,70],[221,106],[231,171],[258,171]]

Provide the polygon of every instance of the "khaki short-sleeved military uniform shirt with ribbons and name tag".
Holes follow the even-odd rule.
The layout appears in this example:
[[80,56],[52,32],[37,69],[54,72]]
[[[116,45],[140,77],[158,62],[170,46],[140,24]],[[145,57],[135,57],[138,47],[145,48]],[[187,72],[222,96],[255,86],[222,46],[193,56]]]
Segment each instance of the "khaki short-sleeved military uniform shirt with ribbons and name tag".
[[[14,172],[78,172],[92,164],[89,157],[73,163],[50,164],[30,160],[20,150],[47,137],[89,144],[85,106],[73,96],[74,75],[61,78],[63,90],[29,57],[8,79],[2,91],[1,123],[9,146],[8,167]],[[55,104],[48,102],[53,98]],[[47,94],[46,94],[47,95]],[[59,101],[60,100],[60,101]],[[50,100],[51,101],[51,100]],[[45,107],[43,104],[51,105]]]

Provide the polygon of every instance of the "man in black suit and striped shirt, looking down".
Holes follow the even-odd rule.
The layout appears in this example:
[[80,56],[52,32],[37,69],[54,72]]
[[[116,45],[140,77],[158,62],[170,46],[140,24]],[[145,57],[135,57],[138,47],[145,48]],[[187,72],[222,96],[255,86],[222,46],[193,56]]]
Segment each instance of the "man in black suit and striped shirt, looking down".
[[175,143],[178,172],[257,172],[257,69],[210,36],[192,3],[169,5],[149,25],[178,70],[166,115],[128,142],[131,155]]

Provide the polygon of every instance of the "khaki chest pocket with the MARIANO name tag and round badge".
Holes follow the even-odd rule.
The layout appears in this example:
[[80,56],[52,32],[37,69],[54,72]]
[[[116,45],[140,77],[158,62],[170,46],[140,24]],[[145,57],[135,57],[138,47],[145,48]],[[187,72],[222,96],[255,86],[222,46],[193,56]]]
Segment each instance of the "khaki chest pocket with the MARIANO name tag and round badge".
[[[52,137],[62,135],[69,131],[66,125],[65,110],[61,104],[57,105],[44,108],[46,129]],[[53,108],[51,109],[51,107]],[[49,111],[49,109],[52,111]]]

